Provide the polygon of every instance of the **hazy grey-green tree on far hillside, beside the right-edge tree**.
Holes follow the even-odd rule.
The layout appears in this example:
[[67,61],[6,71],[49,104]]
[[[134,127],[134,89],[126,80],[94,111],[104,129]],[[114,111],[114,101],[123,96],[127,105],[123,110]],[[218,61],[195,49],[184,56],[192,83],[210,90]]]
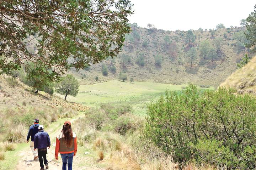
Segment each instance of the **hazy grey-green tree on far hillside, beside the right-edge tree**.
[[[246,33],[246,32],[245,32]],[[239,31],[233,34],[233,38],[236,40],[236,47],[238,52],[241,50],[246,53],[246,45],[249,44],[249,41],[246,39],[246,36],[243,31]]]

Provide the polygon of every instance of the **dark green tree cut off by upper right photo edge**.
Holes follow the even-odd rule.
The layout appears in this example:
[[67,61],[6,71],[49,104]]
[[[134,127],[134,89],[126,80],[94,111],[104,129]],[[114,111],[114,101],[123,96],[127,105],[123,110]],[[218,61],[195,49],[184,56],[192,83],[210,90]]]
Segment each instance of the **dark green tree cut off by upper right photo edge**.
[[246,18],[246,28],[245,32],[246,39],[249,40],[247,42],[247,47],[253,47],[253,50],[256,50],[256,5],[254,6],[254,12],[252,12]]

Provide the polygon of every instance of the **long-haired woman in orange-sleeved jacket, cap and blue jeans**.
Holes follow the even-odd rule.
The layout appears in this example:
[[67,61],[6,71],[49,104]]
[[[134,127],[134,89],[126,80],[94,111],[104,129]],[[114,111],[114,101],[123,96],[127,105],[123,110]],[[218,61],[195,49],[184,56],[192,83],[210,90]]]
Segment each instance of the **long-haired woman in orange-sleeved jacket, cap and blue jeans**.
[[72,170],[73,157],[77,152],[77,137],[75,132],[72,132],[70,121],[65,121],[62,131],[56,138],[55,159],[58,160],[58,155],[62,158],[62,170]]

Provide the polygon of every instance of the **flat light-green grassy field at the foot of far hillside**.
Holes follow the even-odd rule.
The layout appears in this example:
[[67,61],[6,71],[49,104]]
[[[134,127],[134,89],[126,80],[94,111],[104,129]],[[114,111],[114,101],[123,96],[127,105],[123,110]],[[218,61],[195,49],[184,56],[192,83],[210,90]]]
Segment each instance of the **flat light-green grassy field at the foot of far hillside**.
[[146,106],[166,90],[181,91],[184,87],[186,85],[112,80],[94,85],[80,85],[79,94],[76,97],[69,96],[69,100],[90,107],[97,107],[100,103],[131,104],[135,113],[144,115]]

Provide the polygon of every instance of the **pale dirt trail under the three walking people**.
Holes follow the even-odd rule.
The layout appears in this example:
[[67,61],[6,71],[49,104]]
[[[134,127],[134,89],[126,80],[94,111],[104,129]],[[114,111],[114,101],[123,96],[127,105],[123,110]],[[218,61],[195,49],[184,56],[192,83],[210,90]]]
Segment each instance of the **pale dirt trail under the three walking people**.
[[[71,119],[70,121],[73,122],[74,120],[82,117],[82,115],[78,115],[76,118]],[[54,159],[54,152],[55,152],[55,136],[57,136],[62,128],[61,123],[55,123],[50,125],[45,130],[49,133],[51,139],[51,147],[47,150],[47,160],[49,165],[49,170],[62,170],[62,160],[59,154],[59,160]],[[79,148],[78,148],[79,149]],[[16,170],[36,170],[40,169],[39,160],[33,160],[33,154],[29,147],[29,143],[27,147],[22,150],[19,154],[20,161],[16,167]],[[97,165],[93,164],[94,160],[90,157],[85,157],[82,153],[77,153],[77,155],[73,159],[73,169],[75,170],[105,170],[105,168],[99,168]],[[88,163],[86,165],[86,163]],[[83,164],[83,165],[81,165]]]

